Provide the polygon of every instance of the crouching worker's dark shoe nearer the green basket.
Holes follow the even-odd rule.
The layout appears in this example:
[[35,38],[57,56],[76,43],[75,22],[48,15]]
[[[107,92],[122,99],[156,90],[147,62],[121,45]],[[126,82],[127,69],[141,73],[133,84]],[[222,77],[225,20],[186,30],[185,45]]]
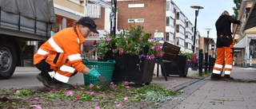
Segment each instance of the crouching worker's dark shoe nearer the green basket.
[[71,84],[66,84],[53,78],[50,82],[50,88],[72,89],[73,86]]

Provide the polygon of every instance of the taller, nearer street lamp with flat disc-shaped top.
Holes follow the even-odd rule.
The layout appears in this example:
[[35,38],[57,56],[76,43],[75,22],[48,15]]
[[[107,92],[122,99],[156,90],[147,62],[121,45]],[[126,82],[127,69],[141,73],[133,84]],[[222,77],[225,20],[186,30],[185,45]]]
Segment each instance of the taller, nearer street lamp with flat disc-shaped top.
[[193,50],[193,53],[194,53],[194,49],[195,49],[195,35],[196,35],[196,33],[197,33],[197,18],[198,18],[199,10],[200,10],[200,9],[203,9],[203,7],[202,7],[202,6],[190,6],[190,8],[197,9],[197,10],[195,10],[194,41],[193,41],[193,45],[192,45],[192,50]]

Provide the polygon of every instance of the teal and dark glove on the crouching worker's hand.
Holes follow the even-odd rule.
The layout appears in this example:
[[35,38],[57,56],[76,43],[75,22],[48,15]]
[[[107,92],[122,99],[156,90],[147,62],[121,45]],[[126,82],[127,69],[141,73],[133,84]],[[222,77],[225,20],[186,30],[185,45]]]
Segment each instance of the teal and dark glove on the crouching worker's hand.
[[92,76],[101,82],[102,86],[110,88],[110,82],[105,77],[101,76],[95,68],[91,68],[88,76]]

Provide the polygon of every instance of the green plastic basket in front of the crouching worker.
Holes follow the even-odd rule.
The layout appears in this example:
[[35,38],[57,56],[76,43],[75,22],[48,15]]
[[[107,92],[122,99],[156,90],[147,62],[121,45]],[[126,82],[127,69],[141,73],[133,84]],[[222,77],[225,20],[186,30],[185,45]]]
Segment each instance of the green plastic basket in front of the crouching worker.
[[[106,78],[109,82],[112,81],[112,75],[114,71],[114,64],[116,62],[114,60],[107,61],[90,61],[87,59],[83,60],[83,64],[86,64],[87,68],[95,68],[98,72]],[[85,85],[89,84],[101,84],[94,77],[83,75]]]

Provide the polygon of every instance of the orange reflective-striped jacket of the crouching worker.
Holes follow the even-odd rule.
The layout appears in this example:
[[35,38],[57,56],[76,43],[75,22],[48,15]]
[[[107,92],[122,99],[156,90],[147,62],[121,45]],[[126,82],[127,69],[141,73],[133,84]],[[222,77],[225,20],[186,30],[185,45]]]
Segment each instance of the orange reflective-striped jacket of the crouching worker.
[[85,41],[85,38],[79,32],[78,28],[76,29],[78,34],[74,32],[74,28],[72,27],[62,29],[54,34],[53,37],[50,37],[48,41],[41,45],[38,52],[34,54],[34,64],[38,64],[46,59],[47,56],[56,53],[64,53],[66,58],[70,61],[71,66],[75,68],[76,71],[82,72],[85,64],[82,63],[80,45]]

